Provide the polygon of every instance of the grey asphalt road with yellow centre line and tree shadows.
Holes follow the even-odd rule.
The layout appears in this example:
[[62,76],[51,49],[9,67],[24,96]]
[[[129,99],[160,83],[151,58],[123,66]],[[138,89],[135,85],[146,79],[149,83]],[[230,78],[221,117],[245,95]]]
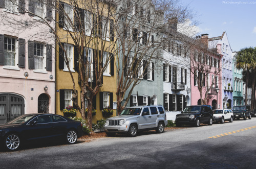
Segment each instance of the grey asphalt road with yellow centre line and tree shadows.
[[1,168],[256,168],[256,118],[0,152]]

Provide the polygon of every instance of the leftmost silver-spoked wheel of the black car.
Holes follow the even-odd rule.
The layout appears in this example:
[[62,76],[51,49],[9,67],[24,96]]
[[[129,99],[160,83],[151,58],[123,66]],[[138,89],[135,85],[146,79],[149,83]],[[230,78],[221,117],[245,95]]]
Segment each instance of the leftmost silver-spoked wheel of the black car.
[[17,134],[8,134],[4,143],[6,150],[15,151],[20,147],[20,138]]

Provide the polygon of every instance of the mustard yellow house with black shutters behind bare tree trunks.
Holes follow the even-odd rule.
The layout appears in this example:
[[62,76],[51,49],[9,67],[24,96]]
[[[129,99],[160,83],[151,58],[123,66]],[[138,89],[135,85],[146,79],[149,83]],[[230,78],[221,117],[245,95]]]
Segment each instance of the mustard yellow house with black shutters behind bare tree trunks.
[[[70,1],[69,1],[70,2]],[[84,2],[82,1],[83,5]],[[83,10],[83,9],[87,9],[86,7],[84,7],[83,5],[79,6],[79,10]],[[73,41],[71,36],[77,36],[75,32],[72,31],[72,27],[75,25],[74,20],[76,13],[75,8],[73,7],[73,4],[69,4],[68,1],[63,1],[63,2],[59,2],[59,10],[56,10],[56,32],[57,32],[57,38],[58,38],[58,42],[56,42],[56,58],[55,58],[55,62],[56,62],[56,114],[60,114],[63,115],[63,109],[65,109],[67,106],[73,106],[73,101],[72,99],[72,92],[73,92],[73,82],[72,82],[72,78],[71,75],[73,75],[73,80],[75,82],[75,88],[77,90],[77,103],[79,106],[81,106],[81,101],[80,101],[80,92],[81,92],[81,83],[79,82],[78,79],[78,71],[79,71],[79,67],[78,67],[78,55],[77,55],[77,48],[75,45],[75,42]],[[103,6],[102,4],[100,5],[100,7],[106,8],[107,6]],[[92,38],[92,32],[93,31],[91,29],[91,24],[92,21],[94,20],[94,17],[98,15],[98,12],[93,13],[93,9],[92,10],[84,10],[83,13],[83,17],[84,17],[84,27],[85,29],[87,29],[85,31],[87,38],[91,39],[89,40],[88,44],[86,45],[86,47],[89,47],[88,49],[88,59],[90,58],[94,58],[93,56],[96,55],[96,51],[100,51],[100,47],[101,45],[95,45],[95,40],[96,41],[100,41],[99,38]],[[90,12],[89,12],[90,11]],[[102,12],[102,13],[106,13],[106,12]],[[65,16],[64,16],[65,15]],[[102,14],[103,15],[103,14]],[[104,15],[103,15],[104,17]],[[108,19],[108,20],[112,20],[112,19]],[[113,21],[113,20],[112,20]],[[73,23],[73,25],[71,24],[71,22]],[[109,37],[104,38],[104,40],[102,40],[105,43],[104,52],[99,52],[101,53],[101,56],[103,57],[102,59],[102,64],[104,64],[105,59],[104,57],[108,57],[109,55],[111,55],[111,53],[109,51],[110,48],[115,48],[116,49],[116,45],[113,45],[115,38],[111,37],[110,35],[112,35],[111,33],[111,26],[110,24],[106,24],[107,28],[107,35],[109,35]],[[101,25],[102,28],[102,25]],[[103,30],[103,28],[102,28]],[[99,30],[97,30],[99,31]],[[112,30],[113,31],[113,30]],[[110,32],[110,33],[108,33]],[[101,41],[101,42],[102,42]],[[81,43],[81,42],[80,42]],[[79,44],[80,44],[79,43]],[[71,70],[68,70],[68,67],[64,61],[64,58],[61,56],[64,56],[64,52],[61,48],[61,45],[64,47],[64,49],[66,50],[67,53],[67,58],[69,61],[69,67]],[[113,49],[112,49],[113,50]],[[86,55],[86,54],[84,54]],[[100,59],[98,55],[96,55],[98,60]],[[116,88],[117,88],[117,84],[116,84],[116,56],[113,57],[113,59],[111,59],[108,63],[108,66],[106,66],[106,69],[103,73],[103,83],[102,85],[100,85],[101,87],[99,87],[99,92],[97,93],[96,97],[94,97],[93,99],[93,107],[94,109],[96,109],[96,115],[93,115],[93,123],[96,123],[97,120],[100,120],[102,118],[105,118],[102,115],[102,109],[106,106],[110,106],[111,108],[113,108],[114,112],[113,112],[113,116],[116,115]],[[94,73],[94,67],[92,66],[92,74]],[[91,77],[91,80],[93,82],[93,77]],[[85,99],[86,100],[86,99]],[[87,100],[85,101],[86,107],[88,105]],[[81,117],[81,114],[79,113],[79,111],[77,112],[77,117]]]

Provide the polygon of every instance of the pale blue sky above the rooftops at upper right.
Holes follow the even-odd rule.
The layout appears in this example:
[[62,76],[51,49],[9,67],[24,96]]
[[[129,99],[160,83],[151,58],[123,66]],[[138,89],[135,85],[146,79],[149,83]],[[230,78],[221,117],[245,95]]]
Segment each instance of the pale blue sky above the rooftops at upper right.
[[233,52],[256,47],[256,0],[181,0],[196,13],[199,34],[221,36],[226,31]]

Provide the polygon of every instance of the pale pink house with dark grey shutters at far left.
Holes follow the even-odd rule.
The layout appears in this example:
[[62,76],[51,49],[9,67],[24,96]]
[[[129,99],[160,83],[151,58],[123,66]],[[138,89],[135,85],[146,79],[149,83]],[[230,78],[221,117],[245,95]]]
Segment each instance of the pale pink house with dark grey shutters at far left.
[[54,13],[39,2],[12,2],[0,1],[0,124],[22,114],[55,113],[54,36],[34,23],[46,17],[54,26]]

